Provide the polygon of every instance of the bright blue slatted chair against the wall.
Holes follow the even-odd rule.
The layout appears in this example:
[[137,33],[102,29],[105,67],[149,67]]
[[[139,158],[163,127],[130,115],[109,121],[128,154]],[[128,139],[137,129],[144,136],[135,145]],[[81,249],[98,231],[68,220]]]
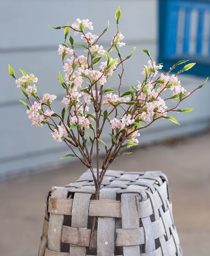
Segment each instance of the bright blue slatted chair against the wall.
[[189,59],[189,74],[210,75],[210,0],[159,0],[158,57],[164,70]]

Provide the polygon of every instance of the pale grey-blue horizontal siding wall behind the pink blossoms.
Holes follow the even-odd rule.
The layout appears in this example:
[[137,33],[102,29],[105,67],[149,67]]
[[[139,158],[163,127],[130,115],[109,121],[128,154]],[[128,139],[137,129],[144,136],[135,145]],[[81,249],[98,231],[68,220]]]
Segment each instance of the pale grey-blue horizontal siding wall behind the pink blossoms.
[[[7,64],[14,70],[21,68],[38,77],[39,94],[49,92],[62,98],[62,89],[57,81],[58,70],[62,70],[57,46],[63,40],[63,30],[50,29],[52,26],[72,23],[77,17],[89,18],[99,34],[106,27],[109,30],[101,39],[101,44],[110,45],[115,32],[115,10],[120,5],[122,17],[120,31],[125,35],[127,47],[122,50],[128,55],[136,46],[135,55],[126,63],[124,87],[136,84],[141,79],[140,71],[147,56],[141,49],[147,48],[157,57],[158,2],[156,0],[1,0],[0,2],[0,177],[29,171],[47,164],[58,163],[59,157],[66,153],[62,143],[55,143],[47,128],[31,128],[25,108],[18,102],[23,99],[20,90],[8,75]],[[78,41],[79,36],[75,37]],[[80,49],[78,51],[81,52]],[[188,90],[204,79],[182,76]],[[117,84],[112,79],[111,86]],[[141,134],[141,143],[162,140],[169,136],[186,134],[188,131],[201,131],[209,125],[210,107],[209,84],[182,107],[196,107],[188,114],[179,114],[181,126],[168,120],[160,120],[150,130]],[[59,101],[55,109],[61,108]],[[104,138],[106,140],[106,137]]]

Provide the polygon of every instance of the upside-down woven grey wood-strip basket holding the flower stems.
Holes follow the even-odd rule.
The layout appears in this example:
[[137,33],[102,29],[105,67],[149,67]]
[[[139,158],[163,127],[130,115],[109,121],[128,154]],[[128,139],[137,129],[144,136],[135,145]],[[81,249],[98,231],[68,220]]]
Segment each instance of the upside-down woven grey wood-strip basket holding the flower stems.
[[[108,170],[94,200],[90,171],[53,187],[38,256],[181,256],[167,177]],[[97,225],[89,250],[92,218]]]

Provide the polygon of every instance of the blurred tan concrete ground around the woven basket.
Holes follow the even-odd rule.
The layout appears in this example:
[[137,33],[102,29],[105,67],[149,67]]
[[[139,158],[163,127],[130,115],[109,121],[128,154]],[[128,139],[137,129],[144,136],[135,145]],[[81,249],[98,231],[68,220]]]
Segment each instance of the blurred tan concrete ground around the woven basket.
[[[210,255],[210,134],[151,145],[119,157],[111,169],[162,170],[169,178],[175,225],[184,256]],[[0,183],[0,256],[35,256],[45,196],[77,179],[78,162]]]

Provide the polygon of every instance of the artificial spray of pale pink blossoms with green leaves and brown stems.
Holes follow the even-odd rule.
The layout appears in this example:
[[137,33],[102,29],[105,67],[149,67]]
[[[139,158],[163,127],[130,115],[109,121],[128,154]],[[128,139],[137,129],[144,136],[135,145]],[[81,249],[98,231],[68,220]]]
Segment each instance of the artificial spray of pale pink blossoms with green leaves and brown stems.
[[[20,70],[23,76],[17,78],[14,70],[9,66],[10,75],[28,100],[28,103],[23,100],[20,102],[26,105],[26,113],[32,121],[32,126],[48,125],[52,138],[58,143],[66,143],[72,151],[64,157],[77,157],[91,170],[96,199],[109,165],[116,157],[131,153],[122,149],[138,145],[137,138],[140,136],[140,131],[158,119],[170,119],[178,124],[178,121],[170,116],[170,112],[192,111],[192,108],[178,109],[178,105],[207,81],[188,92],[181,86],[178,75],[189,70],[195,63],[187,64],[177,73],[170,75],[178,65],[187,62],[182,60],[174,64],[167,73],[159,73],[163,66],[156,64],[150,52],[144,49],[143,52],[149,58],[148,64],[142,71],[144,81],[138,81],[135,86],[125,88],[122,83],[124,62],[132,56],[135,48],[127,57],[121,55],[120,48],[124,47],[125,43],[122,41],[124,35],[119,32],[120,8],[115,17],[117,31],[107,50],[99,44],[99,39],[106,33],[109,24],[101,35],[90,32],[93,26],[88,19],[77,19],[72,25],[52,27],[64,29],[64,42],[58,46],[58,55],[61,55],[63,63],[63,73],[59,72],[59,81],[65,94],[61,101],[64,106],[61,114],[53,111],[52,103],[56,95],[45,93],[42,97],[38,96],[36,85],[38,79],[24,70]],[[73,34],[81,38],[81,44],[74,43]],[[77,55],[76,47],[82,47],[84,55]],[[109,55],[111,53],[112,57]],[[108,85],[109,77],[116,72],[119,77],[118,90]],[[167,98],[164,97],[166,91],[171,93]],[[172,108],[167,107],[168,101],[173,101]],[[110,128],[109,148],[100,139],[106,122],[109,123]],[[99,166],[100,145],[106,150],[101,166]],[[93,171],[95,152],[96,174]]]

